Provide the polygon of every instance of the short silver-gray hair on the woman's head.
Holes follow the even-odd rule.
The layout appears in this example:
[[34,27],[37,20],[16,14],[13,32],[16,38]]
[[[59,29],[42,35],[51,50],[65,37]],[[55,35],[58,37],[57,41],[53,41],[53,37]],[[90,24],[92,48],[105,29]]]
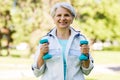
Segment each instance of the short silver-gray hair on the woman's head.
[[60,2],[60,3],[55,4],[55,5],[51,8],[50,14],[51,14],[52,17],[55,16],[55,12],[56,12],[57,8],[59,8],[59,7],[63,7],[63,8],[68,9],[68,10],[70,11],[70,13],[72,14],[73,17],[76,16],[75,10],[74,10],[74,8],[72,7],[72,5],[70,5],[70,4],[67,3],[67,2]]

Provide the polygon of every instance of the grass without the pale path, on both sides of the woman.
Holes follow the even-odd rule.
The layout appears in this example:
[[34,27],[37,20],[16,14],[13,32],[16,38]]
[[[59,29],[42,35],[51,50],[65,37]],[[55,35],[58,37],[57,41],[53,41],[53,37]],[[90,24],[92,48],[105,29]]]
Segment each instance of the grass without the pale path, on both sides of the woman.
[[[15,55],[24,55],[21,52],[13,51],[12,54]],[[24,52],[25,53],[25,52]],[[94,58],[95,65],[120,65],[120,52],[115,51],[94,51],[91,52]],[[25,58],[25,57],[0,57],[0,64],[14,64],[14,66],[0,66],[0,71],[2,70],[31,70],[31,64],[33,63],[32,58]],[[24,65],[24,66],[18,66]],[[7,76],[6,76],[7,77]],[[90,75],[85,76],[86,80],[120,80],[120,71],[115,72],[115,74],[108,74],[108,73],[94,73],[93,71]],[[9,79],[1,79],[0,80],[38,80],[37,78],[31,76],[26,77],[23,76],[21,78],[9,78]]]

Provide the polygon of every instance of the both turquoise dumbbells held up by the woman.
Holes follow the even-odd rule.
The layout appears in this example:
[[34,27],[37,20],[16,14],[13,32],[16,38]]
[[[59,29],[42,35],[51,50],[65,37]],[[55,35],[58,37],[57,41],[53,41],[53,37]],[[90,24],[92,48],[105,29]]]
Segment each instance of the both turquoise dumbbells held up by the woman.
[[[48,40],[47,40],[47,39],[42,39],[42,40],[40,40],[40,44],[44,44],[44,43],[48,43]],[[80,41],[80,46],[82,46],[82,45],[88,45],[88,41],[87,41],[87,40],[81,40],[81,41]],[[44,59],[44,60],[47,60],[47,59],[50,59],[50,58],[52,58],[52,55],[48,54],[48,52],[43,56],[43,59]],[[82,53],[82,54],[80,55],[79,59],[80,59],[81,61],[83,61],[83,60],[86,61],[86,60],[89,59],[89,56],[86,55],[85,53]]]

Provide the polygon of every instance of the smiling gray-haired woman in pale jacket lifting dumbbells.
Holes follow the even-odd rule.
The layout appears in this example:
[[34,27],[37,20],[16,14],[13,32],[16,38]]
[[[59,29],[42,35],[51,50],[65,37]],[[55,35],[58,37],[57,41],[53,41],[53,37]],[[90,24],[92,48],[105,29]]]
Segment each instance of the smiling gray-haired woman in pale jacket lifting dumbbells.
[[[32,70],[40,80],[85,80],[93,69],[93,59],[89,46],[80,46],[81,40],[86,40],[72,24],[76,14],[74,8],[66,2],[57,3],[51,9],[55,27],[41,40],[48,42],[39,44]],[[86,60],[80,59],[86,51]],[[44,56],[49,54],[48,58]]]

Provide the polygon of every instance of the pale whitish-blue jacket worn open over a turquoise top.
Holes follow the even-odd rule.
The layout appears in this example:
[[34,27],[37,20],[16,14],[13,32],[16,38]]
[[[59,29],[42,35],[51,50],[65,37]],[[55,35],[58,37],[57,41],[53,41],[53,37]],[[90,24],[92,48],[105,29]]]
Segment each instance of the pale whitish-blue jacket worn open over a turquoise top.
[[[80,52],[80,40],[86,38],[80,34],[79,31],[75,31],[70,27],[71,36],[68,39],[68,43],[65,51],[66,58],[66,80],[85,80],[84,74],[88,75],[93,69],[93,59],[89,55],[90,64],[88,68],[84,68],[79,60]],[[52,55],[51,59],[45,60],[41,68],[37,68],[37,58],[40,54],[40,46],[35,54],[35,61],[32,65],[33,72],[36,77],[41,76],[40,80],[64,80],[64,63],[62,57],[62,47],[56,37],[56,28],[51,30],[47,36],[42,39],[48,39],[49,41],[49,54]]]

